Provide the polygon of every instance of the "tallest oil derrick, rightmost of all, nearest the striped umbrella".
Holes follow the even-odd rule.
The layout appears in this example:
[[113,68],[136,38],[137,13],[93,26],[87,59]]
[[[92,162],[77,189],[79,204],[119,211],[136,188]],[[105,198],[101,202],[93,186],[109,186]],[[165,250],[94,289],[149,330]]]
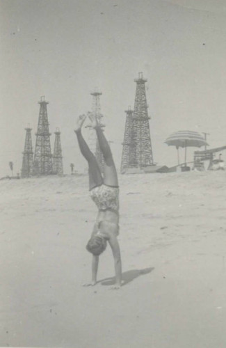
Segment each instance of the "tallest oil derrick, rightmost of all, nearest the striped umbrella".
[[131,127],[130,168],[153,166],[152,143],[150,137],[150,117],[147,114],[147,100],[143,73],[139,72],[136,82],[134,114]]

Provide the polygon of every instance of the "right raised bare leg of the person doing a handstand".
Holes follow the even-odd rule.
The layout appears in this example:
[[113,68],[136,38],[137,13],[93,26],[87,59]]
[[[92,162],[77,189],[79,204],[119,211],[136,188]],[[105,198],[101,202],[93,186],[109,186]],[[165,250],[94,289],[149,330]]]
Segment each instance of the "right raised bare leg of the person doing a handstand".
[[92,116],[92,114],[89,115],[89,118],[92,122],[92,127],[96,130],[99,148],[104,156],[104,184],[109,186],[118,186],[118,175],[111,153],[111,148],[104,136],[97,118],[95,116]]

